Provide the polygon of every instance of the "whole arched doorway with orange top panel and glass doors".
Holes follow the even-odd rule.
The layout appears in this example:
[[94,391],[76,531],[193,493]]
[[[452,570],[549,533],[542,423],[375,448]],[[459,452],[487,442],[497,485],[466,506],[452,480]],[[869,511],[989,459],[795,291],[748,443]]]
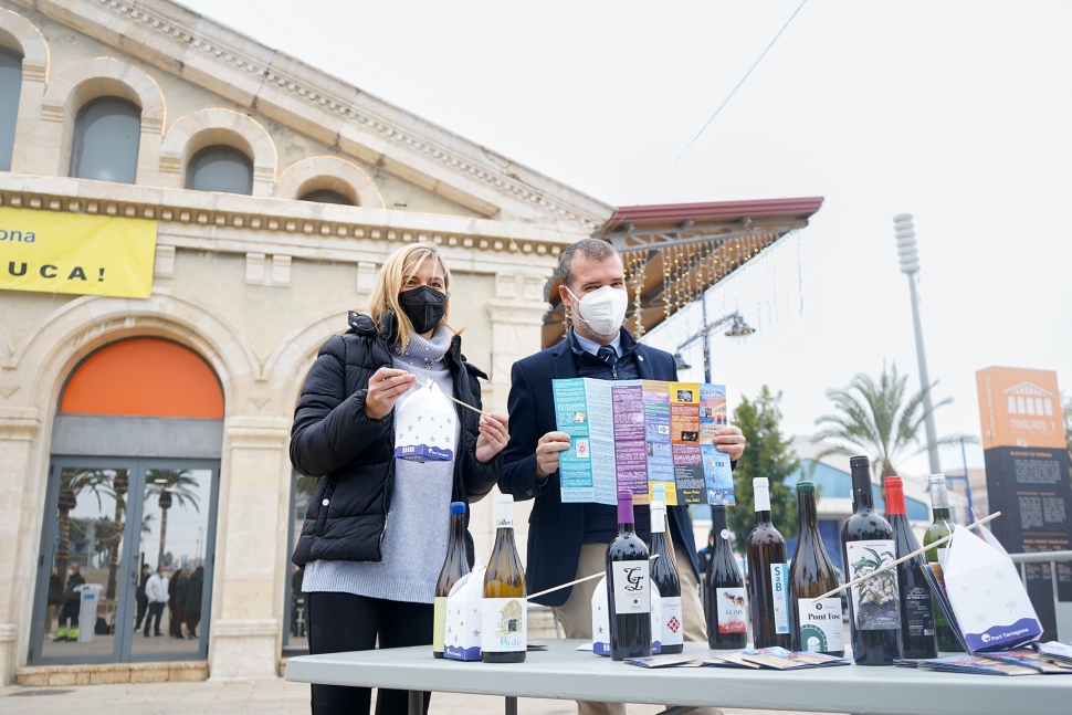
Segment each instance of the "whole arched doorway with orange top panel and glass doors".
[[[220,382],[177,343],[119,340],[72,371],[52,435],[30,664],[207,658],[222,434]],[[168,582],[148,583],[158,567]]]

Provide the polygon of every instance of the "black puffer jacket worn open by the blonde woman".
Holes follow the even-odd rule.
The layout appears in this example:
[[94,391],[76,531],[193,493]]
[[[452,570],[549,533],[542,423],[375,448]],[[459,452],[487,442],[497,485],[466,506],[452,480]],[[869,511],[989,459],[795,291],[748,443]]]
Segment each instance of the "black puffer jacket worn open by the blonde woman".
[[[345,335],[329,338],[320,348],[294,410],[291,463],[302,474],[320,477],[294,549],[297,566],[317,559],[382,559],[380,541],[395,486],[395,412],[374,420],[365,413],[365,398],[372,374],[391,366],[388,347],[396,343],[397,322],[388,312],[377,330],[372,318],[350,313],[349,325]],[[465,361],[458,336],[444,361],[454,397],[480,409],[476,378],[487,376]],[[480,416],[461,406],[456,411],[461,444],[454,453],[451,501],[469,503],[495,486],[503,455],[487,464],[477,462]]]

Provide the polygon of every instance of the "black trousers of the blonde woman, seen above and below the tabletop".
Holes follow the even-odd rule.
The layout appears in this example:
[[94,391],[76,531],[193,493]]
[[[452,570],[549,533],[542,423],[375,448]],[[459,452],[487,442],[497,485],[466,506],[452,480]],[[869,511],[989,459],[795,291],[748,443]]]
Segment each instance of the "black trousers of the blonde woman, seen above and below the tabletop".
[[[380,648],[432,644],[432,604],[404,603],[353,593],[305,595],[305,622],[309,653],[370,651],[379,638]],[[431,658],[431,648],[428,656]],[[367,715],[370,687],[313,685],[313,715]],[[424,693],[424,713],[431,693]],[[406,715],[406,691],[379,688],[376,715]]]

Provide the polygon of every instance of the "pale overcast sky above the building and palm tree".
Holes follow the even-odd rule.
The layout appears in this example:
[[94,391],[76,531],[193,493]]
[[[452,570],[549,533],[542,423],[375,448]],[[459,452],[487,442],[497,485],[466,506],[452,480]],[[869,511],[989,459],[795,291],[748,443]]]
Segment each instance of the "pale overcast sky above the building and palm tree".
[[[183,4],[613,206],[826,197],[710,304],[757,328],[712,341],[731,407],[768,385],[787,432],[884,361],[917,385],[901,212],[931,378],[954,399],[938,432],[979,434],[985,367],[1055,370],[1072,392],[1072,3],[811,0],[691,146],[799,0]],[[698,327],[677,323],[653,341]]]

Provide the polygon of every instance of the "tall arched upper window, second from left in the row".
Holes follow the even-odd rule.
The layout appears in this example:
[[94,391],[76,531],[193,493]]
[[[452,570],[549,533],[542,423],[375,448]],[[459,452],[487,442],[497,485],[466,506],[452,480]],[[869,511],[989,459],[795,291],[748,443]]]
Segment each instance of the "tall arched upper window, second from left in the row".
[[71,176],[134,183],[138,175],[141,111],[126,99],[87,103],[74,122]]

